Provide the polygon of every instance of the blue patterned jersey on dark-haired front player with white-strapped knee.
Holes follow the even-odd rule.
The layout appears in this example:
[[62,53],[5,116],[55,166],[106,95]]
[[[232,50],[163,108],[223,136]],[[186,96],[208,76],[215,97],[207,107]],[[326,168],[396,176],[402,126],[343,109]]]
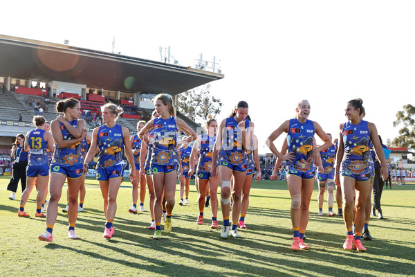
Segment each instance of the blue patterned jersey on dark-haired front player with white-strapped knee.
[[[228,159],[233,165],[247,166],[247,157],[242,147],[242,134],[234,116],[226,118],[225,139],[223,140],[221,158]],[[249,120],[245,119],[245,131],[249,128]]]

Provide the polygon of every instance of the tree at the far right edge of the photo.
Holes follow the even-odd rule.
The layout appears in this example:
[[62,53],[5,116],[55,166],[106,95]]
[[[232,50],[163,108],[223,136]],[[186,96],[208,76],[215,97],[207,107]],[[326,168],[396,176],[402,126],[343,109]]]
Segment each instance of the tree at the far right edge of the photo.
[[403,124],[399,130],[399,136],[392,141],[398,148],[407,148],[408,151],[415,150],[415,107],[408,104],[403,106],[403,111],[396,113],[394,127]]

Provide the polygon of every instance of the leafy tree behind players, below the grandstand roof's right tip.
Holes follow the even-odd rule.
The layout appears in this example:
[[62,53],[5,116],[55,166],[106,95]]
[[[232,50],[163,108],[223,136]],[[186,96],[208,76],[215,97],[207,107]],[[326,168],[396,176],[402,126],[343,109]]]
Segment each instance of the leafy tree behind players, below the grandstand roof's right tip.
[[213,117],[221,112],[223,103],[210,95],[210,84],[191,89],[178,95],[178,111],[203,126],[209,115]]

